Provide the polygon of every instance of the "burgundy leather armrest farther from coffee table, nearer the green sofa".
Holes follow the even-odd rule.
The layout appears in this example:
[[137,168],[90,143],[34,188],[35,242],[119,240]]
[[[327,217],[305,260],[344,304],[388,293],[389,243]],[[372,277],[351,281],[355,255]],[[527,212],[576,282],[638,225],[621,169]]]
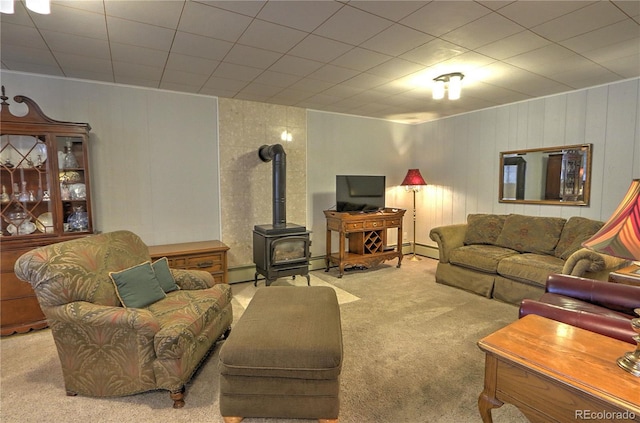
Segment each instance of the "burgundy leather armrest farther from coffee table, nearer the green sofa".
[[633,310],[640,307],[640,286],[552,274],[547,278],[545,291],[577,298],[629,315],[633,315]]

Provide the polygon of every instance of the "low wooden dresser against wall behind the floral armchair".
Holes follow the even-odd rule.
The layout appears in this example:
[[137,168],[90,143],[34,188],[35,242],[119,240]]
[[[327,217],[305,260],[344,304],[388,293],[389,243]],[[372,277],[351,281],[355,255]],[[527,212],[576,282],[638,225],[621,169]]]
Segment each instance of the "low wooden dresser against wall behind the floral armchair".
[[229,247],[220,241],[198,241],[179,244],[153,245],[149,247],[152,260],[166,257],[174,269],[205,270],[216,281],[229,283],[227,251]]

